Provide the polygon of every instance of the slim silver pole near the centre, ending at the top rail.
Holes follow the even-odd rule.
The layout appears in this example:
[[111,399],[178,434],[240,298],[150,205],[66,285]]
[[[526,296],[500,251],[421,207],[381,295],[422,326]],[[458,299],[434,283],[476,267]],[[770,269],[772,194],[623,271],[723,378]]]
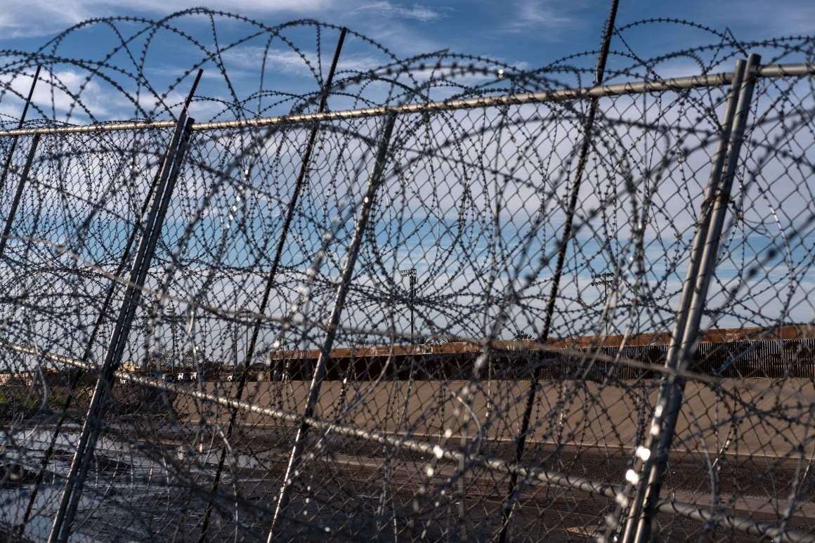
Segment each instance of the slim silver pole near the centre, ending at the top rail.
[[394,131],[394,122],[396,121],[396,114],[389,113],[385,117],[385,126],[382,128],[379,138],[379,145],[377,148],[376,162],[374,162],[370,178],[368,178],[368,189],[362,201],[362,206],[359,210],[359,216],[356,219],[354,227],[354,238],[348,249],[348,257],[345,266],[342,269],[340,283],[337,285],[337,294],[334,297],[334,306],[331,310],[331,316],[328,318],[328,327],[326,329],[323,346],[320,348],[319,358],[315,364],[314,377],[311,379],[311,386],[309,388],[308,400],[306,400],[306,408],[303,410],[303,420],[297,430],[297,435],[294,438],[294,445],[292,448],[291,457],[289,457],[289,466],[286,468],[286,473],[283,478],[283,486],[280,488],[280,498],[277,502],[275,509],[275,516],[271,520],[271,527],[269,528],[269,536],[267,541],[272,541],[275,533],[275,527],[280,520],[283,511],[289,505],[291,498],[292,485],[294,479],[297,478],[297,470],[300,467],[302,451],[306,444],[306,434],[309,430],[309,424],[306,422],[307,417],[314,416],[315,407],[319,397],[319,389],[323,384],[325,376],[326,364],[328,357],[333,347],[334,338],[337,335],[337,326],[340,324],[340,316],[345,307],[346,295],[350,286],[351,277],[354,275],[354,267],[359,254],[359,248],[362,245],[362,239],[365,230],[368,227],[368,218],[371,214],[373,201],[377,196],[377,189],[382,183],[385,174],[385,160],[388,154],[388,146],[390,144],[390,135]]

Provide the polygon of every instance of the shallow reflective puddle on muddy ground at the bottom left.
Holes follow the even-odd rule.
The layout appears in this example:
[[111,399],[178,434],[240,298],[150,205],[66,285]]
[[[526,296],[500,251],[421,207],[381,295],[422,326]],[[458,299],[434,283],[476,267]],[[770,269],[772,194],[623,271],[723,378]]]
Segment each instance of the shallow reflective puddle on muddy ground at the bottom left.
[[[122,427],[118,430],[128,429]],[[33,541],[43,541],[51,532],[53,515],[59,506],[64,477],[68,475],[79,431],[80,427],[76,425],[65,427],[56,441],[55,454],[48,466],[49,473],[37,493],[33,514],[24,531],[24,536]],[[48,427],[21,429],[0,435],[0,451],[5,453],[2,461],[16,462],[36,473],[52,435],[53,428]],[[183,464],[187,475],[194,476],[203,471],[211,475],[218,464],[220,448],[217,442],[210,450],[170,444],[167,447],[176,447],[174,459]],[[267,461],[249,454],[228,457],[227,462],[229,465],[234,462],[234,466],[240,469],[265,470],[268,467]],[[229,480],[231,466],[224,471],[222,479],[225,484]],[[150,535],[142,527],[149,524],[149,519],[140,519],[139,512],[130,504],[138,505],[139,510],[149,510],[151,502],[166,501],[173,481],[174,468],[145,457],[137,447],[112,439],[109,435],[101,435],[70,541],[95,543],[111,538],[124,541],[123,536],[135,541],[147,539]],[[10,526],[20,523],[32,490],[33,483],[0,489],[0,522]]]

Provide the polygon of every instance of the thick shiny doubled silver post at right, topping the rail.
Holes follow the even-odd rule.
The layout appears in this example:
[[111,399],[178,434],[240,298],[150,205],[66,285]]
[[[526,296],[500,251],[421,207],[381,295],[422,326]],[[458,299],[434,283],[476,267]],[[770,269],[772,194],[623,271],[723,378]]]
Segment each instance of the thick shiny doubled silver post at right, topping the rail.
[[[707,289],[716,268],[716,254],[738,166],[747,115],[750,113],[759,63],[759,55],[750,55],[746,63],[744,60],[738,60],[734,71],[722,123],[722,134],[703,201],[701,223],[694,236],[688,274],[683,285],[680,307],[665,361],[667,368],[677,371],[685,370],[695,349],[699,324],[707,301]],[[642,461],[641,469],[638,474],[633,471],[628,479],[629,482],[637,484],[637,492],[628,511],[621,540],[623,542],[650,541],[651,523],[656,514],[662,476],[667,466],[684,391],[684,377],[669,375],[663,380],[648,439],[645,446],[638,448],[637,457]]]

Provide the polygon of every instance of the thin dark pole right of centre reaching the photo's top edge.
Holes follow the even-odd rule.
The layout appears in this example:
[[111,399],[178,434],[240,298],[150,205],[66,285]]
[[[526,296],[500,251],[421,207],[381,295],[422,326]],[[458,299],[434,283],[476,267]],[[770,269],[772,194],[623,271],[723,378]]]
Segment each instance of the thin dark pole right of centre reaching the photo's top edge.
[[[611,1],[611,9],[609,12],[608,20],[606,20],[606,27],[603,29],[603,38],[601,48],[597,54],[597,68],[594,73],[594,85],[600,85],[606,73],[606,60],[608,59],[609,48],[611,44],[611,35],[614,33],[615,20],[617,18],[617,6],[619,0]],[[580,146],[580,153],[577,161],[577,170],[575,170],[575,179],[571,184],[571,193],[569,195],[569,204],[566,208],[566,219],[563,224],[563,236],[561,239],[560,247],[557,251],[557,263],[555,264],[555,272],[552,276],[552,289],[549,292],[549,297],[546,303],[546,311],[544,313],[544,325],[538,335],[538,342],[545,343],[549,337],[549,330],[552,327],[552,317],[557,300],[557,291],[560,287],[561,276],[563,275],[563,266],[566,261],[566,249],[568,248],[569,241],[571,240],[572,223],[575,219],[575,210],[577,208],[577,198],[580,192],[580,185],[583,181],[584,170],[588,163],[588,152],[592,147],[593,132],[594,132],[594,117],[597,117],[597,108],[600,99],[592,98],[588,106],[588,115],[584,123],[584,137],[583,143]],[[532,409],[535,406],[535,395],[538,391],[538,377],[535,372],[530,375],[529,392],[526,395],[526,406],[523,411],[523,418],[521,428],[518,431],[518,442],[515,446],[515,461],[520,462],[523,456],[524,448],[526,448],[526,435],[529,432],[529,424],[532,417]],[[506,541],[507,532],[509,530],[509,523],[512,519],[512,514],[515,505],[515,493],[518,490],[518,474],[513,472],[509,476],[509,490],[506,498],[504,499],[504,508],[501,512],[501,531],[498,538],[499,543]]]

